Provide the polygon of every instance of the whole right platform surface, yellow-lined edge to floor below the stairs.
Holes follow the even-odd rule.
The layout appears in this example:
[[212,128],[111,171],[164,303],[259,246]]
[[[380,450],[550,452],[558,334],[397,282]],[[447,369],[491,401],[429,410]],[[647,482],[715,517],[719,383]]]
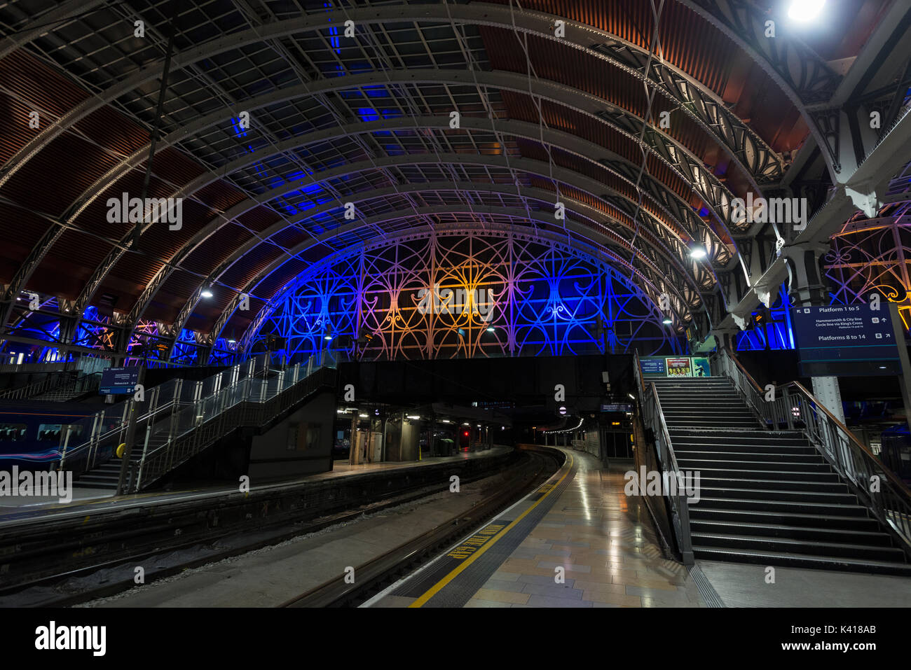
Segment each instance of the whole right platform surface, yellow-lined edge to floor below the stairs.
[[364,604],[371,607],[906,606],[911,580],[665,556],[631,461],[567,462],[486,526]]

